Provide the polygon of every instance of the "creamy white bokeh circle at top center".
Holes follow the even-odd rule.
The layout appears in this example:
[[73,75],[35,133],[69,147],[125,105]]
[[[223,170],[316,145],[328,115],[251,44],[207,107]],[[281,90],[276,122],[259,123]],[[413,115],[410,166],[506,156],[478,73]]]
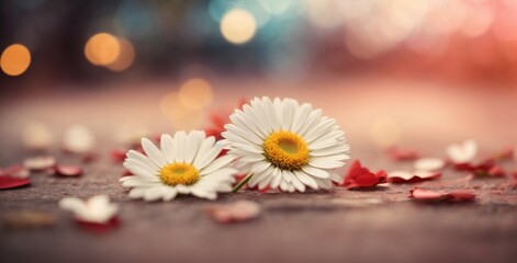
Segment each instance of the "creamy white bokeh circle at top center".
[[223,16],[220,28],[226,41],[241,45],[255,36],[257,22],[250,12],[243,9],[233,9]]

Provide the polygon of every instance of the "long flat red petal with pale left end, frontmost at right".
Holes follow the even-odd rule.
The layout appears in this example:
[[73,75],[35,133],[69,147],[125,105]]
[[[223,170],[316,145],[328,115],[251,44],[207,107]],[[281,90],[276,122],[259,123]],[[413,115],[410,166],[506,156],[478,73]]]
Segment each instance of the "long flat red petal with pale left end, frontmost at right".
[[435,191],[414,187],[409,191],[409,197],[417,201],[468,202],[474,201],[475,194],[470,191]]

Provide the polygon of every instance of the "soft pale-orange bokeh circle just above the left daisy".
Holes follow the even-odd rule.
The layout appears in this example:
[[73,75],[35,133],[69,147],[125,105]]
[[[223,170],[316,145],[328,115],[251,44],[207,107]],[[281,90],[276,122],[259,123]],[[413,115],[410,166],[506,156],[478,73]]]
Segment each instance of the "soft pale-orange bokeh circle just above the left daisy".
[[179,100],[188,108],[201,110],[212,102],[212,87],[204,79],[190,79],[181,85]]

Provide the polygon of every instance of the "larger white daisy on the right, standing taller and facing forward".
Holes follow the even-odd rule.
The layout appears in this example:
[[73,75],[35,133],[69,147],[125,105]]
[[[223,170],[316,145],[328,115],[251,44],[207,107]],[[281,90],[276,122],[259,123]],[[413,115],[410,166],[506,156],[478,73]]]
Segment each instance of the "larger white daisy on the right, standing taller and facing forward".
[[293,99],[254,99],[231,115],[224,144],[249,172],[249,186],[284,192],[330,188],[350,147],[334,118]]

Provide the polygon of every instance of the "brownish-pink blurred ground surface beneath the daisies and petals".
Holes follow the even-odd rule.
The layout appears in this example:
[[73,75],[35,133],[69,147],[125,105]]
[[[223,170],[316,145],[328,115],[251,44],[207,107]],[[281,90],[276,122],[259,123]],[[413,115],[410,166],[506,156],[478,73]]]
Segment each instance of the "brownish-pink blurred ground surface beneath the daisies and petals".
[[[429,156],[442,157],[447,144],[469,137],[480,141],[482,152],[517,142],[513,122],[517,110],[512,100],[515,93],[465,95],[461,89],[424,89],[413,94],[405,92],[404,87],[384,92],[380,88],[363,90],[350,82],[323,83],[322,89],[336,92],[336,96],[328,98],[324,94],[327,92],[307,87],[294,92],[249,83],[249,90],[239,91],[241,83],[218,84],[227,85],[227,90],[216,91],[214,108],[233,106],[243,95],[295,94],[301,101],[314,101],[347,130],[352,158],[372,170],[411,167],[390,161],[374,144],[375,139],[370,138],[369,122],[386,111],[390,116],[401,117],[405,127],[398,142]],[[251,199],[261,204],[263,213],[249,222],[221,225],[205,216],[205,207],[213,204],[209,201],[188,196],[170,203],[131,201],[117,182],[123,169],[109,157],[110,149],[117,147],[111,130],[127,116],[144,119],[157,133],[171,130],[157,110],[160,96],[169,89],[173,90],[175,84],[145,91],[119,87],[91,94],[36,94],[3,100],[0,167],[34,155],[23,150],[19,140],[27,119],[45,122],[57,134],[69,125],[86,124],[98,135],[99,159],[85,164],[81,178],[34,174],[29,187],[0,191],[0,215],[31,209],[48,211],[57,219],[45,229],[2,227],[1,262],[436,263],[517,259],[517,187],[507,179],[467,180],[468,174],[452,170],[420,186],[471,190],[477,194],[475,202],[416,203],[407,198],[415,185],[303,194],[243,191],[222,195],[215,203]],[[390,96],[391,93],[405,95]],[[408,101],[412,94],[418,95],[418,102]],[[437,104],[440,107],[435,111],[432,106]],[[58,147],[50,155],[61,162],[80,163],[78,157],[63,155]],[[506,163],[505,168],[515,170],[515,162]],[[76,226],[70,214],[57,207],[65,196],[95,194],[108,194],[120,204],[119,229],[103,235],[85,231]]]

